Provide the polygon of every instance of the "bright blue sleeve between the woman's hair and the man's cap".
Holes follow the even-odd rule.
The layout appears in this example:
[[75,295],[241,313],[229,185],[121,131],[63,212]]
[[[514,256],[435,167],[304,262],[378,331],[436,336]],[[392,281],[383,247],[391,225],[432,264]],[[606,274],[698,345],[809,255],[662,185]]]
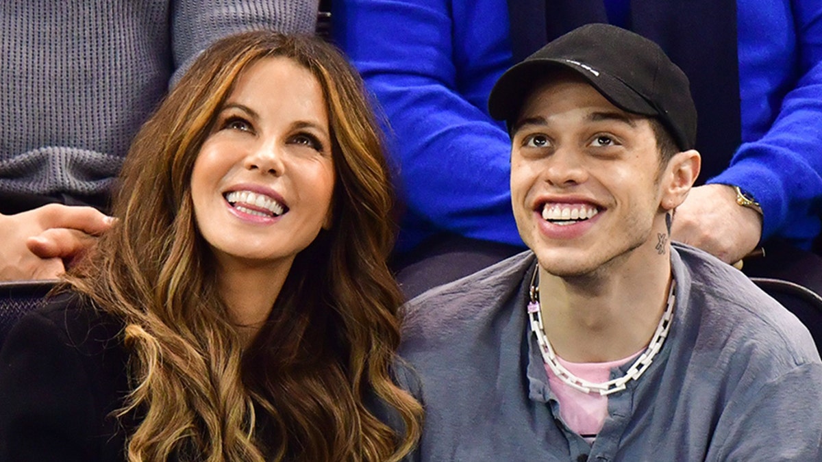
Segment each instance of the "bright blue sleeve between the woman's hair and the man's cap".
[[506,2],[457,3],[335,2],[333,33],[390,123],[406,213],[436,231],[521,246],[510,139],[486,108],[510,65]]

